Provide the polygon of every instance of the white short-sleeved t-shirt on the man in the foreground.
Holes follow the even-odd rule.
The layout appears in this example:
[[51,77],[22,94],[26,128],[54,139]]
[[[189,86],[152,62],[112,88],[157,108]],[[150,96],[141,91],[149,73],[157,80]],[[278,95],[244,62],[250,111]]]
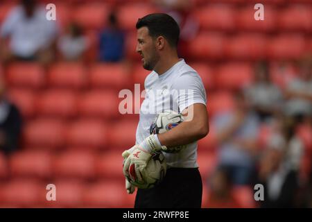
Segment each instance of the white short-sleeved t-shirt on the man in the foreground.
[[[197,72],[180,60],[164,74],[152,71],[145,80],[145,99],[141,105],[137,126],[137,144],[150,135],[150,125],[158,113],[166,110],[182,112],[194,103],[206,105],[205,87]],[[163,152],[164,153],[164,152]],[[196,168],[197,142],[179,153],[164,153],[168,167]]]

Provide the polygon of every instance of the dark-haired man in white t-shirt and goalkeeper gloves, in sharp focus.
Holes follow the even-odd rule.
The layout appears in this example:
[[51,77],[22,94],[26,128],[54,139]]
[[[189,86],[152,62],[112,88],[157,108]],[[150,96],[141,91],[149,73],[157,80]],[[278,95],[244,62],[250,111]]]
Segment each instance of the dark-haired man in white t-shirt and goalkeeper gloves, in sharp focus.
[[[198,171],[197,141],[209,132],[206,93],[200,76],[177,56],[180,28],[166,14],[150,14],[138,20],[137,52],[144,69],[152,71],[145,80],[146,97],[141,105],[136,145],[123,152],[123,173],[130,178],[135,165],[137,180],[151,153],[162,151],[168,169],[164,180],[152,189],[138,189],[135,207],[200,207],[202,180]],[[157,113],[173,110],[184,121],[159,135],[149,128]],[[178,153],[173,147],[185,145]],[[135,187],[126,179],[129,194]]]

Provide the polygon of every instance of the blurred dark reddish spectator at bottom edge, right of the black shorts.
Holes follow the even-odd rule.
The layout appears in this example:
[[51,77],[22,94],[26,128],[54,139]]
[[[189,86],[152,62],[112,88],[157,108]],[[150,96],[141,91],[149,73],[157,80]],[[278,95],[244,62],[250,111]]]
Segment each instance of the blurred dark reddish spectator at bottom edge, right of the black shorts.
[[217,169],[211,176],[207,200],[208,208],[240,208],[241,205],[233,195],[232,180],[225,169]]

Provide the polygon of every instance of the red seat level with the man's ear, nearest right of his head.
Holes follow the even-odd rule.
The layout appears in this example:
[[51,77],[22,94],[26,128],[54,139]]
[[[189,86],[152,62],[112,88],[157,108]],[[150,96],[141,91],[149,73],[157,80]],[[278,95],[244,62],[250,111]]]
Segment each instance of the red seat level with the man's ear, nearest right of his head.
[[190,56],[198,60],[218,60],[224,56],[224,47],[224,35],[202,32],[192,41]]

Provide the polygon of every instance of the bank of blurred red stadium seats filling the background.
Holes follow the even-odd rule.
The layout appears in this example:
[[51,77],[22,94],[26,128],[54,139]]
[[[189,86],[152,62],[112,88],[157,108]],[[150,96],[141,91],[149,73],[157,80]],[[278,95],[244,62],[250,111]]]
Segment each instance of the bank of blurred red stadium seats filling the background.
[[[135,52],[135,23],[138,17],[161,9],[143,0],[53,2],[61,33],[69,22],[77,22],[89,49],[81,62],[56,59],[46,67],[39,62],[11,62],[0,69],[8,98],[24,117],[21,151],[10,157],[0,151],[0,207],[133,207],[135,194],[127,195],[124,189],[121,152],[135,144],[137,114],[121,115],[118,95],[121,89],[134,93],[134,84],[144,90],[150,71],[143,69]],[[312,53],[311,0],[261,1],[264,21],[254,19],[258,2],[246,2],[193,0],[191,14],[198,19],[200,31],[191,40],[187,62],[206,87],[210,119],[234,110],[234,91],[252,83],[255,62],[268,60],[272,82],[284,89],[297,76],[295,62]],[[0,28],[16,4],[0,2]],[[126,58],[98,62],[98,31],[106,26],[112,9],[126,33]],[[209,207],[207,180],[218,162],[212,124],[209,135],[198,142],[202,207]],[[261,149],[273,131],[261,125]],[[300,175],[307,182],[312,167],[311,126],[300,125],[297,135],[304,144]],[[46,200],[49,183],[57,187],[56,202]],[[241,207],[257,207],[251,187],[234,187],[233,194]]]

